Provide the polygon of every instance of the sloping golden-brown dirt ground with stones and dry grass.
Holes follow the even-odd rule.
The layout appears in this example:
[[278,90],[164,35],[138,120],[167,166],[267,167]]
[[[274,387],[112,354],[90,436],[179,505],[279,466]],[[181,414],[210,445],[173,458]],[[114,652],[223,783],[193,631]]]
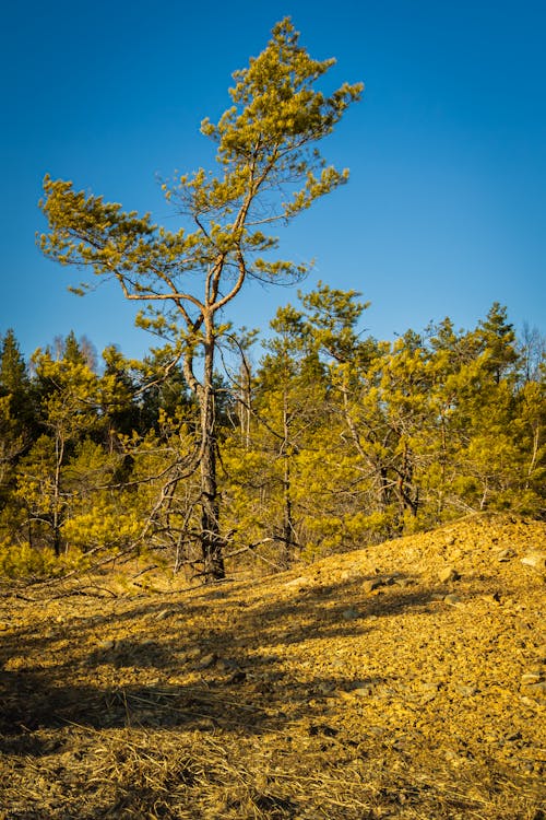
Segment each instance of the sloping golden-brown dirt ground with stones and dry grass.
[[482,517],[211,587],[3,586],[0,819],[544,820],[545,559]]

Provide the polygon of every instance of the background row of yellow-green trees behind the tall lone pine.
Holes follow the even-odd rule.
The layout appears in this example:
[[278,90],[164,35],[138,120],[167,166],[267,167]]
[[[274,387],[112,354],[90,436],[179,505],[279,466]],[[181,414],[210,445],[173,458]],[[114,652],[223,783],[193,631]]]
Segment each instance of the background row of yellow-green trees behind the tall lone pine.
[[[319,283],[262,341],[241,332],[214,380],[224,560],[285,567],[476,511],[544,517],[544,340],[494,304],[394,342]],[[203,431],[168,348],[143,361],[72,332],[26,362],[0,349],[0,572],[159,552],[202,569]]]

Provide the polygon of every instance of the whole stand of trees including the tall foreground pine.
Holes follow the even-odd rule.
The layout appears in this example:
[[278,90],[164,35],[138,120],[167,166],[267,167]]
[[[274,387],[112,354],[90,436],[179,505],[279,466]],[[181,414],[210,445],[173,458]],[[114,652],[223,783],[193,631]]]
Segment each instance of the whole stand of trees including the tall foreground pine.
[[229,320],[241,290],[306,279],[266,232],[348,180],[317,148],[364,90],[325,95],[334,63],[274,26],[201,122],[216,173],[162,185],[175,230],[46,175],[41,251],[84,271],[79,295],[119,285],[159,345],[98,361],[73,331],[25,362],[4,330],[4,574],[150,552],[221,579],[226,562],[286,569],[476,511],[544,515],[544,340],[499,303],[472,330],[381,341],[361,294],[319,281],[266,332]]

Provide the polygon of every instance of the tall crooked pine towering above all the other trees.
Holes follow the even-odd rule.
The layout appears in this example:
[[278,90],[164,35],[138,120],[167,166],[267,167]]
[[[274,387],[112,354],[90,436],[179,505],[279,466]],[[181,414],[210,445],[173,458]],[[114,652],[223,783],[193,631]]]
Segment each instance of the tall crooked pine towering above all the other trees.
[[305,274],[306,266],[272,259],[277,238],[264,227],[290,221],[347,179],[314,147],[363,87],[345,83],[330,96],[318,91],[333,62],[311,59],[286,19],[249,67],[235,72],[233,105],[216,125],[205,119],[201,126],[217,147],[218,175],[200,169],[165,186],[189,232],[157,227],[150,215],[126,213],[71,183],[45,180],[44,251],[116,278],[127,298],[146,305],[140,324],[170,340],[182,360],[200,409],[200,541],[209,577],[224,575],[214,387],[218,341],[228,329],[222,314],[249,279],[286,282]]

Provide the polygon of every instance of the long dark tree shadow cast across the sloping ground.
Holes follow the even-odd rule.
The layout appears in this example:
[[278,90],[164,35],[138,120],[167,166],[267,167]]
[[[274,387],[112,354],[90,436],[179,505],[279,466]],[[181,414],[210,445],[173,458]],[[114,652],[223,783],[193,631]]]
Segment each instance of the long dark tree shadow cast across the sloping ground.
[[[217,590],[204,590],[199,600],[179,596],[167,606],[157,598],[126,601],[124,611],[112,605],[98,617],[90,608],[78,622],[49,623],[47,635],[39,625],[20,629],[1,646],[0,751],[39,755],[36,730],[72,724],[219,727],[251,735],[280,730],[288,719],[320,716],[334,690],[372,687],[377,679],[355,681],[343,669],[299,675],[275,648],[351,641],[380,629],[380,619],[408,609],[427,611],[438,599],[437,589],[423,587],[392,586],[367,596],[361,584],[363,578],[296,585],[286,598],[270,591],[263,600],[249,601],[229,591],[222,600]],[[124,635],[90,651],[90,639],[105,625],[122,628]],[[62,652],[56,648],[59,641]],[[58,663],[45,666],[43,659],[51,656]],[[23,663],[13,669],[10,657]],[[139,676],[142,682],[135,683]]]

